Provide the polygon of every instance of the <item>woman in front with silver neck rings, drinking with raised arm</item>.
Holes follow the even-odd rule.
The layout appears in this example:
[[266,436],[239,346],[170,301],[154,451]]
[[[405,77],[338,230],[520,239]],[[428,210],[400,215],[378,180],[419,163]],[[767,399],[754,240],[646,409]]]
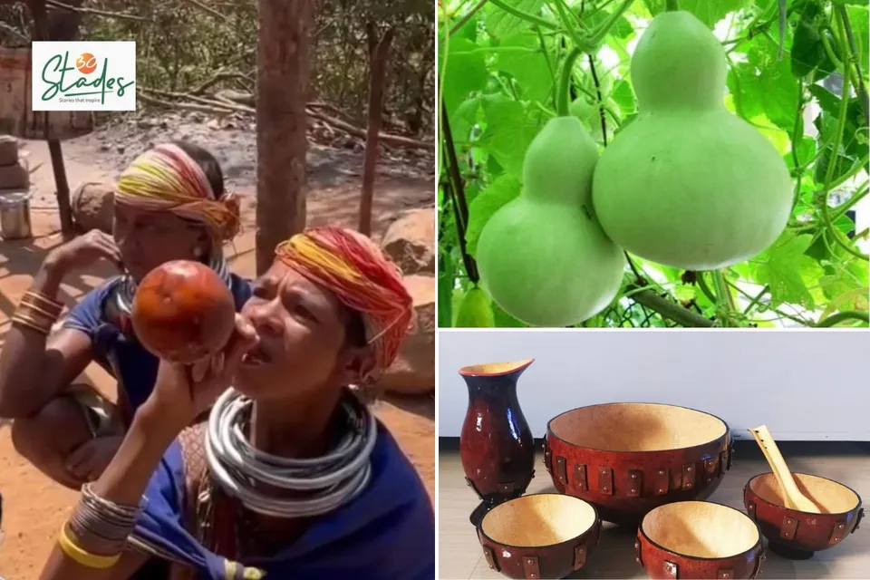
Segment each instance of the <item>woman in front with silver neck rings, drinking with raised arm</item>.
[[[398,269],[338,228],[276,254],[224,353],[160,362],[43,580],[123,580],[153,557],[171,566],[136,577],[434,578],[428,494],[353,390],[391,364],[413,322]],[[186,429],[216,399],[208,423]]]

